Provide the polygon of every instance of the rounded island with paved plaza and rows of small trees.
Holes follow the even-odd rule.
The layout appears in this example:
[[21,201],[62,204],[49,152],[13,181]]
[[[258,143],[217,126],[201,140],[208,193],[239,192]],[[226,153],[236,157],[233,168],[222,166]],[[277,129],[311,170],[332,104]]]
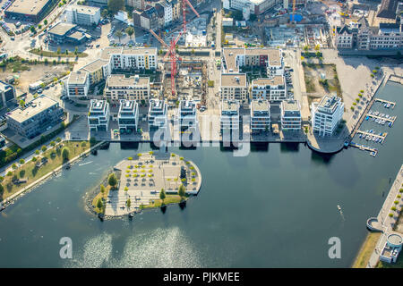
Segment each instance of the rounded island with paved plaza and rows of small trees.
[[116,164],[92,198],[92,209],[104,216],[133,215],[142,209],[184,203],[201,188],[201,172],[176,154],[137,154]]

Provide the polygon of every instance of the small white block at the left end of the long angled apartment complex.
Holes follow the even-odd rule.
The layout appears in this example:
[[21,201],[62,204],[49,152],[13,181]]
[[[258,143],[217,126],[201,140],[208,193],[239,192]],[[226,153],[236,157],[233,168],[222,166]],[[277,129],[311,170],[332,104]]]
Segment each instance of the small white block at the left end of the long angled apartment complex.
[[90,89],[90,76],[87,71],[70,72],[69,77],[64,82],[67,97],[88,97]]

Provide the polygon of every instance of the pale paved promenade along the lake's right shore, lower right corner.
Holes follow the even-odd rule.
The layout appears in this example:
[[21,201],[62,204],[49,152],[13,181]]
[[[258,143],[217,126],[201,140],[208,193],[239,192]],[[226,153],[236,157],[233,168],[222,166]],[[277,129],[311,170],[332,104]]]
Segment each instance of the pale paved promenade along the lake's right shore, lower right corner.
[[[402,199],[397,198],[399,194],[399,189],[401,188],[403,183],[403,165],[401,165],[398,175],[396,176],[396,180],[390,187],[390,191],[388,197],[385,199],[383,206],[381,208],[380,213],[377,216],[377,220],[379,223],[377,225],[381,228],[382,231],[381,238],[378,240],[376,247],[373,249],[373,254],[371,255],[368,265],[366,268],[373,268],[378,264],[379,257],[382,253],[382,248],[386,243],[388,235],[393,232],[393,226],[397,222],[398,215],[396,212],[391,211],[390,208],[394,206],[394,201],[399,200],[399,207],[401,207]],[[398,208],[399,208],[398,207]],[[394,213],[392,217],[389,216],[390,213]]]

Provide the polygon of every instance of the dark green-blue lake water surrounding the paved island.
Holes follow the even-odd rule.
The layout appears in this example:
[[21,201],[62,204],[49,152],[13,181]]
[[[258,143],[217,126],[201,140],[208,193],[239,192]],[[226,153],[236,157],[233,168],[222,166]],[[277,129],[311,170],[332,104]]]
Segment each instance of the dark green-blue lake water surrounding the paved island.
[[[401,111],[399,84],[378,94]],[[253,146],[245,157],[172,147],[199,166],[199,196],[183,210],[102,223],[85,211],[83,195],[124,157],[150,150],[111,144],[4,210],[0,266],[349,267],[402,164],[402,127],[400,113],[376,157],[355,148],[321,156],[303,144]],[[60,258],[62,237],[73,240],[73,259]],[[341,240],[340,259],[328,256],[331,237]]]

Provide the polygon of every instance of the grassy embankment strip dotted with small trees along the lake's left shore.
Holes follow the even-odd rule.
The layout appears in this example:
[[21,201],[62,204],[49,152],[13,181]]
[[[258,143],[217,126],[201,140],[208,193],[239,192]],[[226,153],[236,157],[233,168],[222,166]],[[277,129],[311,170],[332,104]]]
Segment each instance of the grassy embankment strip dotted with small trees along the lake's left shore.
[[[48,172],[54,171],[58,166],[64,163],[62,156],[62,151],[64,147],[69,149],[69,159],[75,156],[79,156],[82,152],[90,148],[89,141],[65,141],[62,142],[63,147],[56,148],[51,147],[45,152],[39,151],[40,154],[37,157],[47,157],[47,164],[36,167],[38,159],[36,162],[30,161],[26,164],[22,164],[19,168],[16,168],[13,172],[9,172],[5,175],[3,181],[1,182],[2,188],[0,188],[0,200],[12,196],[14,193],[18,192],[22,188],[30,185],[33,181],[38,180],[42,176],[46,175]],[[25,183],[14,184],[13,179],[24,179],[27,180]],[[3,189],[3,191],[1,191]]]

